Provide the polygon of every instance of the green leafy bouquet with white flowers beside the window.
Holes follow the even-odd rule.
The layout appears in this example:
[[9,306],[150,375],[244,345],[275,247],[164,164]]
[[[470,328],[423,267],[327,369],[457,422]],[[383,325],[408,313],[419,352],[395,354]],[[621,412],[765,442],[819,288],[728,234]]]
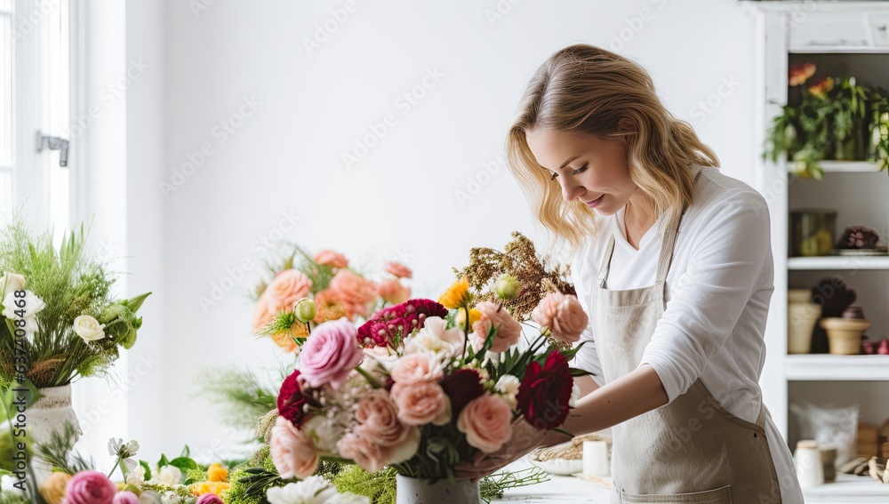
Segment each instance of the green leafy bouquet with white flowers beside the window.
[[136,312],[150,292],[115,300],[115,276],[87,253],[84,227],[56,249],[52,233],[32,236],[16,218],[0,239],[0,387],[36,388],[102,375],[131,348]]

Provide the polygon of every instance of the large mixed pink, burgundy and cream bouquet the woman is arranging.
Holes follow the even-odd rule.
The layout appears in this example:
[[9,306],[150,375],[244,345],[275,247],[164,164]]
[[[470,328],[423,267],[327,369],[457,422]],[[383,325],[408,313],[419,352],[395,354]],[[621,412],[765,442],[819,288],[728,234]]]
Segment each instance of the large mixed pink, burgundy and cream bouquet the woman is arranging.
[[368,471],[454,479],[453,468],[509,442],[517,421],[540,430],[565,421],[579,390],[569,367],[588,318],[563,292],[538,292],[539,327],[519,348],[524,317],[507,303],[525,295],[501,274],[478,301],[461,279],[436,302],[383,308],[356,327],[347,317],[318,324],[281,386],[270,429],[284,478],[310,476],[319,460],[353,460]]

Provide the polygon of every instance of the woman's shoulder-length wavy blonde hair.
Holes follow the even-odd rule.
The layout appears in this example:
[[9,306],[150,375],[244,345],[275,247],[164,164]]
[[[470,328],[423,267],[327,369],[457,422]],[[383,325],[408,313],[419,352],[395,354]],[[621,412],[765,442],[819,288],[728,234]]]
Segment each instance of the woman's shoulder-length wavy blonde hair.
[[[630,120],[632,131],[619,128],[621,118]],[[536,219],[556,238],[550,252],[565,243],[576,251],[596,236],[598,219],[587,205],[566,202],[537,163],[525,132],[538,127],[603,140],[626,138],[630,179],[652,198],[658,217],[664,212],[678,217],[692,204],[692,164],[719,166],[716,153],[692,126],[663,106],[645,68],[592,45],[565,47],[534,73],[507,138],[510,170],[537,209]]]

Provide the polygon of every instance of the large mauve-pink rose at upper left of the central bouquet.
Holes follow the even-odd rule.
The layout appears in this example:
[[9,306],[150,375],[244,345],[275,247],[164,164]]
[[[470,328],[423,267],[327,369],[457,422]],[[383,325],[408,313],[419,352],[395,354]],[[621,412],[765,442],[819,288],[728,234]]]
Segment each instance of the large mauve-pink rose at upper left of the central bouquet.
[[301,376],[311,387],[330,383],[332,388],[340,388],[362,356],[358,330],[348,318],[325,322],[319,324],[302,345]]

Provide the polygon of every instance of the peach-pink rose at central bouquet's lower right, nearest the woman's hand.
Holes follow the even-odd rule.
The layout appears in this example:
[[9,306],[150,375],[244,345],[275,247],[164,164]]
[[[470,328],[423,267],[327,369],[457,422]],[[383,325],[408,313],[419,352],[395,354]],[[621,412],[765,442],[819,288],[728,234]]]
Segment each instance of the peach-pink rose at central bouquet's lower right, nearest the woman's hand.
[[470,446],[496,452],[512,436],[512,408],[500,396],[477,397],[460,412],[457,429],[466,434]]

